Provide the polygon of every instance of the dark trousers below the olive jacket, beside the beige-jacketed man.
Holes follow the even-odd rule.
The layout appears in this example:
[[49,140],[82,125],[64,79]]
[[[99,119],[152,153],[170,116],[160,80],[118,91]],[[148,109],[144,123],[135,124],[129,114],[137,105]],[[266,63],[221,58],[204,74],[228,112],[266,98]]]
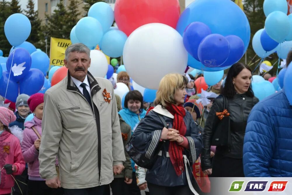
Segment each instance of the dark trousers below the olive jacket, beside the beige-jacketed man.
[[105,191],[103,195],[110,195],[109,186],[112,188],[112,195],[129,195],[130,190],[128,184],[125,183],[125,179],[122,178],[114,178],[112,183],[105,186]]

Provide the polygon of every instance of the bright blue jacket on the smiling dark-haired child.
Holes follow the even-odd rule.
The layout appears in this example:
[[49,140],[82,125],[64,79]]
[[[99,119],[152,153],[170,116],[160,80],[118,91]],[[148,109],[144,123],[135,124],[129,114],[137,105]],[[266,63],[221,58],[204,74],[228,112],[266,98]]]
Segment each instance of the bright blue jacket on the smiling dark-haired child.
[[124,121],[131,126],[131,130],[133,130],[137,123],[145,117],[146,113],[147,112],[144,109],[142,109],[140,114],[133,113],[128,108],[123,108],[121,111],[119,111],[119,114],[124,119]]

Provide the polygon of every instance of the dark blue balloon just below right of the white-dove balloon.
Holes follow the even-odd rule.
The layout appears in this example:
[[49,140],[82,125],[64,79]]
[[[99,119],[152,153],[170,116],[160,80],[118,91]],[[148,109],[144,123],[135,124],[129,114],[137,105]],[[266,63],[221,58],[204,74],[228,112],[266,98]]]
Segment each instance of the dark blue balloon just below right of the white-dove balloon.
[[30,96],[39,92],[44,86],[44,78],[44,74],[39,69],[30,69],[26,77],[20,81],[19,93]]

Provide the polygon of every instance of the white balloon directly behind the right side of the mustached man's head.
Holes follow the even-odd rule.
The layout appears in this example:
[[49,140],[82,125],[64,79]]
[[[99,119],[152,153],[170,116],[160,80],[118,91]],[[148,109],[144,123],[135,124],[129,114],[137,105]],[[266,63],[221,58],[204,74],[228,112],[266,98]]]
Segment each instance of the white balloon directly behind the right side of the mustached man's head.
[[107,75],[107,58],[105,57],[105,54],[103,54],[101,51],[93,49],[90,50],[90,58],[91,58],[91,65],[88,68],[88,71],[94,76],[94,77],[102,77],[104,78],[105,75]]

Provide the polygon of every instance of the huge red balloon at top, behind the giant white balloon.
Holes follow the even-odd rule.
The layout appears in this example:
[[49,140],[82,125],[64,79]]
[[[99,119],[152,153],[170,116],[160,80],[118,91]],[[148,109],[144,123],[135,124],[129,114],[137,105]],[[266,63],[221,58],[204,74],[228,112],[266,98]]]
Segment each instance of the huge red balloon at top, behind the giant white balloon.
[[114,6],[119,30],[127,36],[149,23],[163,23],[175,29],[179,17],[178,0],[117,0]]

